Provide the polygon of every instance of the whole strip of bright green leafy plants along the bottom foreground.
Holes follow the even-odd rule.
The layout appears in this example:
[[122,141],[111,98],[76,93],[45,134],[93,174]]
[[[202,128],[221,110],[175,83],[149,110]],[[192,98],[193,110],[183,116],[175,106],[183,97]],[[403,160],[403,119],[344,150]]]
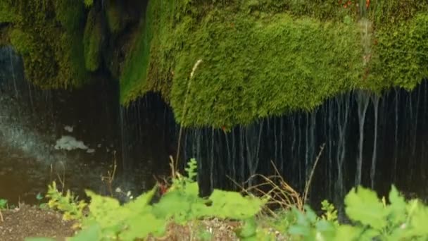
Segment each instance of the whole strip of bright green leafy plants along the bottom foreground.
[[[136,240],[165,235],[168,223],[184,225],[201,218],[217,217],[241,221],[234,231],[241,240],[275,240],[274,228],[287,240],[426,240],[428,206],[417,199],[406,201],[394,185],[388,202],[379,199],[372,190],[353,188],[345,197],[345,211],[351,224],[339,223],[337,211],[327,201],[322,202],[321,216],[313,209],[297,206],[266,214],[269,197],[242,196],[238,192],[214,190],[208,199],[198,197],[194,181],[194,159],[187,168],[188,175],[175,174],[168,192],[153,202],[157,187],[137,199],[120,205],[111,197],[101,197],[87,190],[91,197],[88,216],[82,215],[83,202],[76,204],[73,195],[61,195],[56,186],[49,186],[50,206],[65,211],[66,217],[82,224],[69,240]],[[54,205],[51,205],[54,204]],[[78,207],[76,209],[76,207]],[[78,215],[74,215],[78,214]],[[197,232],[201,240],[210,238]],[[28,239],[32,240],[32,239]],[[44,239],[45,240],[45,239]],[[49,240],[49,239],[46,239]]]

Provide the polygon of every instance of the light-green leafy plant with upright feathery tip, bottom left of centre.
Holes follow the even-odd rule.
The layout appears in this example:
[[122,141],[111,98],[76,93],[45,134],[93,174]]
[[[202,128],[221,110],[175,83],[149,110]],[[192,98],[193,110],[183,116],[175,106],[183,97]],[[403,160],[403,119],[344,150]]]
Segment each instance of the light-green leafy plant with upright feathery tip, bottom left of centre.
[[[92,240],[135,240],[148,235],[159,237],[165,234],[166,225],[170,222],[184,225],[189,221],[214,216],[247,220],[258,214],[265,204],[256,197],[243,197],[238,192],[222,190],[214,190],[208,199],[202,199],[199,197],[198,183],[194,180],[196,168],[196,160],[191,159],[186,168],[187,175],[176,172],[168,192],[155,204],[151,204],[151,200],[157,185],[123,205],[117,199],[102,197],[87,190],[91,202],[89,216],[82,220],[82,232],[95,229],[99,236]],[[83,235],[82,232],[79,235]],[[209,233],[196,235],[208,239]]]

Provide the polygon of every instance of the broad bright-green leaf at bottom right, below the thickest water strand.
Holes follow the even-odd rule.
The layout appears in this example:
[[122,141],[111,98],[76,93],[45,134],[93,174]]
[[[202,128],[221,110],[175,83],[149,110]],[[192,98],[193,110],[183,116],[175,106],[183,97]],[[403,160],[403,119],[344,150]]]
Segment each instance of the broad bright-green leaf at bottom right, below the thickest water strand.
[[346,214],[353,221],[370,225],[377,230],[386,226],[387,210],[372,190],[359,186],[355,187],[345,197]]

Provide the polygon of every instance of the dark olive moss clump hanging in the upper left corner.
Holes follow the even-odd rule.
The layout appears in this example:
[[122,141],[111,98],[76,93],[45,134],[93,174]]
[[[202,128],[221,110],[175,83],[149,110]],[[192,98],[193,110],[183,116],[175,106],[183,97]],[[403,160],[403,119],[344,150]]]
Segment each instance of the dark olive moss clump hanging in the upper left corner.
[[88,80],[80,27],[82,2],[19,0],[10,6],[19,20],[9,37],[23,56],[27,80],[45,89],[79,87]]

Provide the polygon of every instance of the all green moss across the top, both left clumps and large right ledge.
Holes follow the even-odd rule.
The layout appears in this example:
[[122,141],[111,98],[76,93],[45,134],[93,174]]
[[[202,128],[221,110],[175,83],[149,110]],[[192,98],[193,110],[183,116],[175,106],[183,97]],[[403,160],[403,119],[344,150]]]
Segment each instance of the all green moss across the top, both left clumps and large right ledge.
[[105,4],[2,1],[0,42],[18,49],[39,87],[80,87],[106,64],[120,75],[121,104],[160,92],[193,127],[310,111],[353,89],[413,89],[428,75],[426,1],[149,1],[137,29],[127,11],[144,4]]

